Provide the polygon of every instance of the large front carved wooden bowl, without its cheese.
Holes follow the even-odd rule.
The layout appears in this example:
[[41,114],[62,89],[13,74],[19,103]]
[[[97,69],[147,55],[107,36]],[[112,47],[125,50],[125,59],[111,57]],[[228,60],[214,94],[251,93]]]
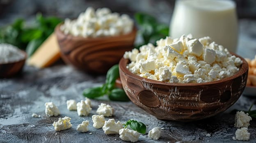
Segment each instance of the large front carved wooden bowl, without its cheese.
[[247,62],[238,57],[243,63],[237,74],[208,83],[164,83],[142,78],[126,68],[130,61],[124,58],[119,62],[119,73],[127,96],[146,112],[162,120],[195,121],[223,112],[238,100],[248,76]]

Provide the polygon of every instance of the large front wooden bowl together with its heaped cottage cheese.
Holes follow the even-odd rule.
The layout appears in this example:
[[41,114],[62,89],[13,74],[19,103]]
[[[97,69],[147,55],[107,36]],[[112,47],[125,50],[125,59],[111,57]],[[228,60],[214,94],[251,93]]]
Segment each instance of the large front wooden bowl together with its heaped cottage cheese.
[[[157,47],[152,48],[152,45],[148,45],[148,47],[141,48],[140,51],[142,54],[139,54],[135,50],[124,55],[125,58],[122,58],[119,62],[119,73],[123,89],[127,96],[135,105],[141,107],[158,119],[163,120],[195,121],[225,111],[238,100],[245,89],[248,76],[247,62],[241,56],[229,53],[226,50],[224,53],[226,53],[226,58],[230,57],[229,60],[226,60],[225,55],[222,55],[223,53],[221,54],[218,53],[219,51],[216,51],[216,53],[213,54],[213,57],[215,56],[215,61],[213,61],[213,59],[209,59],[209,55],[207,56],[207,51],[198,54],[198,48],[194,47],[195,53],[192,54],[192,57],[198,54],[198,56],[196,56],[197,62],[193,62],[190,58],[187,61],[190,64],[187,63],[186,65],[185,63],[185,65],[178,66],[181,60],[185,60],[184,52],[187,52],[179,52],[179,54],[183,53],[183,56],[174,58],[173,60],[177,60],[175,62],[170,60],[170,58],[173,58],[174,51],[178,51],[177,45],[172,45],[172,43],[176,43],[175,41],[178,40],[170,38],[162,39],[162,42],[161,40],[158,41]],[[191,40],[191,38],[187,38],[183,43],[179,44],[184,45],[184,47],[189,46],[191,44],[191,41],[188,42],[189,40]],[[168,43],[168,41],[170,43]],[[203,43],[202,39],[199,41],[204,46],[208,45],[205,47],[210,49],[210,42],[207,44]],[[159,50],[161,44],[163,45],[162,50]],[[200,45],[200,43],[194,43],[192,45],[197,44]],[[163,47],[165,47],[165,45],[169,45],[171,49],[168,49],[169,51],[166,50],[166,48],[164,49]],[[214,43],[214,45],[216,44]],[[172,50],[173,48],[175,50]],[[160,54],[154,52],[154,49],[155,51],[159,50]],[[143,54],[143,50],[148,52]],[[162,57],[161,52],[163,54]],[[190,49],[188,53],[193,53],[193,48]],[[134,54],[137,54],[137,56]],[[146,58],[145,55],[147,55]],[[222,56],[223,59],[219,59]],[[139,57],[143,57],[144,59],[142,60]],[[153,59],[155,67],[151,67],[150,62],[146,63],[146,61],[148,61],[147,58]],[[158,60],[161,58],[167,58],[167,60]],[[204,60],[207,62],[203,62]],[[199,63],[199,65],[197,63]],[[223,66],[218,72],[216,64]],[[232,67],[232,64],[237,66]],[[164,69],[160,69],[159,67],[163,67]],[[207,69],[207,67],[216,69],[217,74],[214,70]],[[191,69],[197,70],[191,72]],[[199,72],[202,70],[209,71],[203,74]],[[161,73],[157,73],[159,71],[161,71]],[[189,76],[184,77],[181,75],[186,72],[189,72],[187,74]],[[231,72],[233,72],[233,74],[231,74]],[[230,73],[229,77],[227,77],[228,73]],[[224,74],[226,77],[224,77]],[[206,77],[203,77],[203,75]],[[213,77],[215,79],[213,79]]]

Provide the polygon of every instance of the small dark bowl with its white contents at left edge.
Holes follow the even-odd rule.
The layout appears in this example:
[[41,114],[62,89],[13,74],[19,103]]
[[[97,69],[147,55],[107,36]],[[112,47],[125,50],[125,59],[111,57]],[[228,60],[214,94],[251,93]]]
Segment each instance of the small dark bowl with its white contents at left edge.
[[0,43],[0,78],[11,78],[18,74],[26,58],[25,51],[10,44]]

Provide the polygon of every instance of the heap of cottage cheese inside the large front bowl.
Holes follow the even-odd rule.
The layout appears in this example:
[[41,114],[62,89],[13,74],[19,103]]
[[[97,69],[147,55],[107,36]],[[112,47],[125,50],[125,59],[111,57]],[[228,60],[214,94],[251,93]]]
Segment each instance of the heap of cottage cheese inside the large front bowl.
[[168,83],[205,83],[233,76],[242,60],[210,37],[191,35],[160,39],[123,55],[127,68],[138,76]]

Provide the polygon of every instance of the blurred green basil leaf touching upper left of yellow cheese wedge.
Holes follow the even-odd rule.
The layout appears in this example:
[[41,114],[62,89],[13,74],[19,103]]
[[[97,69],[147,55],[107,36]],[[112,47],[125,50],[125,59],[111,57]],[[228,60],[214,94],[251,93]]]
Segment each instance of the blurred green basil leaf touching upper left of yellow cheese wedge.
[[31,40],[26,47],[27,56],[30,57],[38,49],[38,47],[43,43],[44,39],[33,39]]

